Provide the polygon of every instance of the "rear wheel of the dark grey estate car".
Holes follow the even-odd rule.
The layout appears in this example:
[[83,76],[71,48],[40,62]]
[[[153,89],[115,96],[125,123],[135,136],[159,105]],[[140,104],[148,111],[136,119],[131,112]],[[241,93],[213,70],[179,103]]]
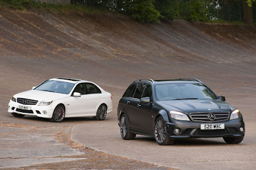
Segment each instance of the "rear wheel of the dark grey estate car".
[[124,140],[132,140],[136,137],[136,134],[130,132],[129,120],[126,114],[122,114],[120,117],[120,133]]

